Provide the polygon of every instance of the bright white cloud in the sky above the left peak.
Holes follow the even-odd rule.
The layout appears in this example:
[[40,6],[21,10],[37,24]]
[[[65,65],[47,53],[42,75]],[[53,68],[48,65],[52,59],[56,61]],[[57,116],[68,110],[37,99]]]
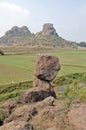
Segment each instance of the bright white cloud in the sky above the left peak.
[[27,25],[29,16],[29,10],[19,5],[0,3],[0,35],[14,25]]

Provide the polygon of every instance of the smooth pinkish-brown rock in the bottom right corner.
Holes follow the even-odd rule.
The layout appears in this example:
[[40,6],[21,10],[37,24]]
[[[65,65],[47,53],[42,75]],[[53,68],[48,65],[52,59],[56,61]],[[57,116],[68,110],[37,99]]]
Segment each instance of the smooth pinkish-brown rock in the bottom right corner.
[[72,103],[68,118],[75,130],[86,130],[86,102]]

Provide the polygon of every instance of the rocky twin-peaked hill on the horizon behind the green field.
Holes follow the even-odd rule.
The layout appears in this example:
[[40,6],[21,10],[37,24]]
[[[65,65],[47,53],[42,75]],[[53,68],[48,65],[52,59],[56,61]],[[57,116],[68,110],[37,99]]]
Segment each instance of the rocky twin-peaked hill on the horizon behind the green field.
[[0,38],[0,45],[45,46],[55,48],[77,48],[77,44],[61,38],[53,24],[46,23],[42,31],[32,34],[26,26],[12,27]]

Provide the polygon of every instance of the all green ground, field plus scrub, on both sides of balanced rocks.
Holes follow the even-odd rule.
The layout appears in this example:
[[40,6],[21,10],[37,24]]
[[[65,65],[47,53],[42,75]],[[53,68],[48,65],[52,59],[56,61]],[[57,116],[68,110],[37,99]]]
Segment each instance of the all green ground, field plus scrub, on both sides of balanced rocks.
[[[53,85],[65,88],[64,92],[59,92],[58,98],[66,98],[68,102],[73,98],[86,100],[86,51],[48,52],[60,59],[61,70]],[[17,97],[32,86],[36,55],[37,53],[0,56],[0,102]]]

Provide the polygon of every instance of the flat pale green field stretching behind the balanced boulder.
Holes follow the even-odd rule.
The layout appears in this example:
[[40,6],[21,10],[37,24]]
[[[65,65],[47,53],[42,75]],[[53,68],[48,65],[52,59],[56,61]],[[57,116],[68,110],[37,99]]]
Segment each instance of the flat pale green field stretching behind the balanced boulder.
[[[86,50],[57,50],[48,53],[59,57],[59,76],[86,72]],[[37,53],[0,56],[0,84],[33,79]]]

